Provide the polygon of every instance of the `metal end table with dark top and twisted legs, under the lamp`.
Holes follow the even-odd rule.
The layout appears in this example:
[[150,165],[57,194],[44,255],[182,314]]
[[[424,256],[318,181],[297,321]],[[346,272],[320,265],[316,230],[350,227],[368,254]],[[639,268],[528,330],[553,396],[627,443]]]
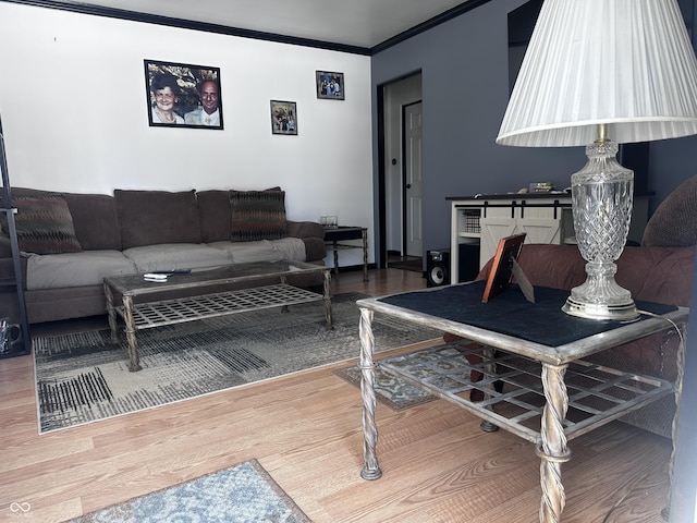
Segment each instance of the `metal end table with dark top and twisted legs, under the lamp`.
[[[623,373],[584,358],[671,328],[685,329],[688,309],[638,302],[645,314],[632,323],[577,318],[561,311],[567,291],[535,288],[528,303],[516,285],[481,303],[484,281],[359,300],[364,467],[362,477],[381,476],[376,454],[375,368],[401,376],[536,445],[541,460],[540,521],[559,522],[565,503],[561,464],[571,459],[567,440],[621,417],[667,394],[680,397],[684,344],[675,384]],[[472,342],[481,364],[470,364],[468,349],[447,345],[374,363],[375,314],[387,314],[457,335]],[[500,354],[499,354],[500,353]],[[496,357],[499,356],[499,357]],[[469,379],[472,370],[484,375]],[[496,382],[503,382],[497,390]],[[484,400],[470,401],[472,390]],[[597,401],[599,400],[599,401]],[[602,406],[599,406],[602,404]]]

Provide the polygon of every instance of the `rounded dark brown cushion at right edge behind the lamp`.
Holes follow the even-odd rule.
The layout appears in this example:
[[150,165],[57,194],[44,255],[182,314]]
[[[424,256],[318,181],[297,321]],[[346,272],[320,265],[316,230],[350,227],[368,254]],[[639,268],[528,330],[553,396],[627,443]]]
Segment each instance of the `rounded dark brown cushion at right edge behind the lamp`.
[[697,244],[697,175],[681,183],[646,224],[641,245],[685,247]]

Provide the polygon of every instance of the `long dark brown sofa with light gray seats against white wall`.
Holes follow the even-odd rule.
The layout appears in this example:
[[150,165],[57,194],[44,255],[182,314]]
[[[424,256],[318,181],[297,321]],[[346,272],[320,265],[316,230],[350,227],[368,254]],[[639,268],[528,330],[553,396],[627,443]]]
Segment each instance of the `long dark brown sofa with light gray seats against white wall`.
[[[25,228],[20,247],[28,320],[105,314],[106,276],[274,259],[323,264],[323,228],[288,220],[284,196],[280,187],[113,195],[13,187],[19,235]],[[4,223],[0,278],[14,272],[7,231]],[[11,287],[0,288],[4,316],[19,318]]]

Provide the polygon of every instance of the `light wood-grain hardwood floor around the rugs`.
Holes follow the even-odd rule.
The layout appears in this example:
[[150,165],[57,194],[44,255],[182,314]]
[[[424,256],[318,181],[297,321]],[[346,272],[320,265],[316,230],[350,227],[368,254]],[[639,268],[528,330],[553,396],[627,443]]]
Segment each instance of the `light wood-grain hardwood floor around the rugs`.
[[[396,269],[362,278],[340,273],[333,292],[426,285]],[[2,360],[0,521],[63,521],[252,458],[316,522],[537,521],[533,445],[482,433],[444,400],[399,413],[378,404],[383,476],[362,479],[360,394],[332,368],[38,436],[32,357]],[[571,449],[565,522],[662,521],[670,441],[617,422]]]

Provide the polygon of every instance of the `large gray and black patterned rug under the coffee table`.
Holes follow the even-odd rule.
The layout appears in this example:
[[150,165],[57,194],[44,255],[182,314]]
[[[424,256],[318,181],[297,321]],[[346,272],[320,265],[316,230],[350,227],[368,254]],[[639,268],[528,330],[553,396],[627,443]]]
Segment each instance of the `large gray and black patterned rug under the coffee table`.
[[[137,373],[127,369],[125,337],[112,343],[108,329],[35,338],[39,433],[358,357],[362,297],[333,297],[332,330],[317,303],[140,330]],[[386,315],[372,330],[378,352],[441,336]]]

